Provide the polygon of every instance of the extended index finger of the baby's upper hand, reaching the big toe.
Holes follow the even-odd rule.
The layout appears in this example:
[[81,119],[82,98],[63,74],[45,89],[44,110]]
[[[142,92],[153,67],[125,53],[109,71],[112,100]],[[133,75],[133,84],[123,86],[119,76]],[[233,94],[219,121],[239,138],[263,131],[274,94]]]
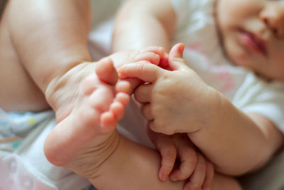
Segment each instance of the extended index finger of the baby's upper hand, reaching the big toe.
[[119,78],[138,78],[144,82],[153,83],[163,72],[162,68],[146,61],[122,65],[119,69]]

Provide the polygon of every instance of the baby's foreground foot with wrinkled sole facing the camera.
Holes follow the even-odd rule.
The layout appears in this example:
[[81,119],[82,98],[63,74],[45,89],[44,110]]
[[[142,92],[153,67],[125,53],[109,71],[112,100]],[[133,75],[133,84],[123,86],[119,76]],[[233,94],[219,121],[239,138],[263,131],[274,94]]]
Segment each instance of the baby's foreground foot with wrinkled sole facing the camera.
[[117,82],[109,58],[97,63],[96,73],[82,81],[72,112],[45,140],[45,156],[52,164],[83,176],[88,175],[91,164],[94,169],[116,148],[119,143],[116,124],[129,102],[130,86]]

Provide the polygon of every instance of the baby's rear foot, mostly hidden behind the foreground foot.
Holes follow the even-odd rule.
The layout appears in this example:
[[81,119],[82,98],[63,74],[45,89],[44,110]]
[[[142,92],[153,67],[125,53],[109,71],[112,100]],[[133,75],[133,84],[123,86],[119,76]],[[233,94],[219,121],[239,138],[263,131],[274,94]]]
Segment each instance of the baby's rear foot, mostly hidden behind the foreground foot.
[[[165,60],[167,60],[167,55],[163,48],[153,46],[148,47],[143,51],[122,51],[114,53],[108,58],[111,59],[115,68],[118,69],[121,65],[135,63],[138,61],[148,61],[155,65],[163,65]],[[75,100],[77,100],[79,95],[81,81],[86,78],[86,76],[91,75],[94,72],[95,65],[97,65],[97,63],[80,63],[75,67],[71,67],[70,70],[67,70],[67,72],[60,78],[54,78],[47,86],[45,90],[45,97],[48,100],[48,104],[55,111],[58,122],[64,120],[65,117],[70,115],[72,112],[75,106]],[[102,77],[103,76],[104,74]],[[127,80],[131,84],[131,91],[141,84],[141,81],[137,79]]]

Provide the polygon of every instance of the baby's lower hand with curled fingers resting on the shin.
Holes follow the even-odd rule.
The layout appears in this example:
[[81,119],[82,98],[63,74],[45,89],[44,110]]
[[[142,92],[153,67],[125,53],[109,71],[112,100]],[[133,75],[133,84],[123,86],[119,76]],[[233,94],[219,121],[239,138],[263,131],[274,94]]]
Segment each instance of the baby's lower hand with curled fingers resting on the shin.
[[148,130],[162,157],[159,178],[186,180],[184,189],[209,189],[214,176],[213,164],[197,152],[187,134],[165,135]]

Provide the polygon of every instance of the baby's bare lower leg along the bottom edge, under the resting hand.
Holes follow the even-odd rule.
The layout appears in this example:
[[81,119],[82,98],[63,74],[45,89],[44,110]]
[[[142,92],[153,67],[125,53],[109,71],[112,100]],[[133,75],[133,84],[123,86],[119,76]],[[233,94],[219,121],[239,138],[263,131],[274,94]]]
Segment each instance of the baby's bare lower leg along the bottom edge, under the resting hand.
[[[94,158],[98,156],[96,152],[92,154]],[[99,167],[93,169],[92,177],[88,179],[97,189],[126,189],[126,186],[127,189],[184,189],[185,181],[158,179],[160,162],[160,155],[155,150],[120,136],[119,146]],[[204,190],[210,189],[208,184],[203,187]],[[201,190],[198,186],[187,186],[185,189]],[[214,174],[211,189],[241,190],[241,187],[236,180],[228,176]]]

